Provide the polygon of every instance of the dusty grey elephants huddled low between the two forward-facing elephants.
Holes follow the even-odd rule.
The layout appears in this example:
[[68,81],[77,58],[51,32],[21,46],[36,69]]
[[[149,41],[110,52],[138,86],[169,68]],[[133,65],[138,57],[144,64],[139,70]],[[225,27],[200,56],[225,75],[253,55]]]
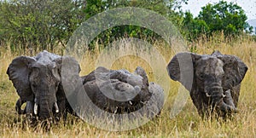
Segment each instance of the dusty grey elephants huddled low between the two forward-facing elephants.
[[151,107],[157,112],[151,113],[156,115],[164,104],[164,90],[156,83],[148,83],[147,74],[140,66],[133,73],[98,67],[82,79],[90,100],[106,112],[136,112],[153,100]]

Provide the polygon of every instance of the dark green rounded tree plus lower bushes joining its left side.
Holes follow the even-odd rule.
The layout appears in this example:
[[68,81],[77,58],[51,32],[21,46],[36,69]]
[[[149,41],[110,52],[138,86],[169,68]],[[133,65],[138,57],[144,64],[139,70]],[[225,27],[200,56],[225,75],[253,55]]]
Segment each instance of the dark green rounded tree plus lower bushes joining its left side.
[[193,14],[186,12],[183,23],[191,40],[201,34],[212,35],[212,32],[223,31],[226,36],[233,37],[244,31],[251,33],[253,27],[249,26],[246,20],[247,15],[236,3],[220,1],[202,7],[200,14],[195,18]]

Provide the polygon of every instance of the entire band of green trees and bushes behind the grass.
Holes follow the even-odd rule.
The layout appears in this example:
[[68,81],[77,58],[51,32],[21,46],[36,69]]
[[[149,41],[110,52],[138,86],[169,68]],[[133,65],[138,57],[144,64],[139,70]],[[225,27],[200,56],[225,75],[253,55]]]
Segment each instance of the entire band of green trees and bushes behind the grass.
[[[0,45],[12,50],[65,48],[69,37],[84,20],[108,9],[138,7],[154,10],[171,20],[189,40],[202,34],[224,31],[227,35],[251,32],[247,16],[240,6],[220,1],[207,4],[198,17],[181,10],[188,0],[9,0],[0,1]],[[102,32],[101,43],[119,37],[138,37],[154,41],[155,32],[142,26],[115,26]],[[1,44],[2,43],[2,44]],[[3,44],[4,43],[4,44]],[[9,44],[6,44],[9,43]],[[93,44],[90,45],[93,49]]]

